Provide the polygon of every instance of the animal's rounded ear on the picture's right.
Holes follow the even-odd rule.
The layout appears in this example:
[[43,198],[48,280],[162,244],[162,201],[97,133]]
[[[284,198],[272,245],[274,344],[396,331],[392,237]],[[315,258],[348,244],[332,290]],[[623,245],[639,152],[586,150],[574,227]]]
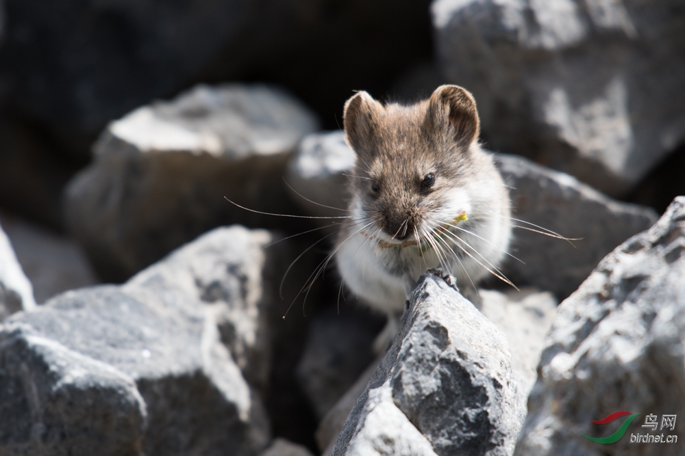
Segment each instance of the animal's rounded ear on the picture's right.
[[428,100],[426,122],[434,131],[443,131],[459,146],[468,147],[478,138],[480,121],[473,95],[458,85],[440,85]]

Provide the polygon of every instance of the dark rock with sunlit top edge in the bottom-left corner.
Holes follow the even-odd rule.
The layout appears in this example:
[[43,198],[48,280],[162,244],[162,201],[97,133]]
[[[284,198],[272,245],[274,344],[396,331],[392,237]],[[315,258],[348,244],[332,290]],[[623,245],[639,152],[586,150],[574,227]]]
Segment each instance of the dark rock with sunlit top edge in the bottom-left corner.
[[0,453],[142,455],[147,409],[130,375],[21,323],[0,343]]

